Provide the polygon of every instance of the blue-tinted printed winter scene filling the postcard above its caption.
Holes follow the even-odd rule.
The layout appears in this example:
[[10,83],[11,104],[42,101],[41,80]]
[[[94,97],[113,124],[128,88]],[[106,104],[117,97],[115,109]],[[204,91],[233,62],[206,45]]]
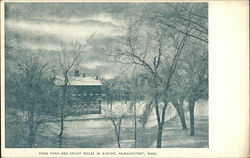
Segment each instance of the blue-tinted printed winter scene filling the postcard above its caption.
[[208,3],[6,2],[5,148],[209,148]]

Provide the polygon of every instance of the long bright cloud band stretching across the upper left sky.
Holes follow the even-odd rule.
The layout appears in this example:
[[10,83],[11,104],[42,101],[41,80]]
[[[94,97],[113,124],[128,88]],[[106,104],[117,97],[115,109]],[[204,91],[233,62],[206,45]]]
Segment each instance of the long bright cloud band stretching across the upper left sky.
[[[92,18],[92,20],[86,18],[72,18],[64,22],[62,22],[63,19],[58,20],[61,20],[61,22],[9,19],[6,20],[6,26],[10,30],[26,31],[33,34],[39,33],[52,35],[64,40],[64,42],[80,39],[85,40],[94,32],[96,32],[96,37],[118,36],[124,32],[122,31],[122,28],[114,27],[115,24],[111,23],[114,22],[114,20],[112,20],[111,17],[106,16],[98,16]],[[72,21],[77,21],[77,23]]]

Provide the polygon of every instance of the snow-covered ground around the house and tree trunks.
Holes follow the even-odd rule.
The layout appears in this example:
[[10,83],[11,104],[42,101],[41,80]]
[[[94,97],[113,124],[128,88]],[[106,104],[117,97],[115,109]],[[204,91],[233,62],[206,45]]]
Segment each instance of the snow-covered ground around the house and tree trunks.
[[[113,104],[112,109],[119,110],[121,103]],[[129,103],[128,103],[129,105]],[[105,105],[104,105],[105,106]],[[107,105],[106,105],[107,106]],[[138,105],[139,107],[139,105]],[[143,112],[145,104],[140,104],[137,114]],[[185,105],[185,108],[186,105]],[[134,124],[131,119],[132,111],[127,106],[127,117],[122,122],[121,146],[133,147],[134,145]],[[167,121],[163,132],[163,147],[206,147],[208,145],[208,105],[207,101],[199,101],[195,106],[197,135],[188,136],[189,130],[181,130],[178,117],[172,121]],[[176,116],[176,110],[169,105],[166,113],[166,120]],[[189,127],[189,114],[186,112],[186,122]],[[150,114],[145,129],[138,124],[138,147],[155,147],[157,121],[154,110]],[[58,137],[60,122],[49,122],[40,130],[37,137],[37,147],[58,147]],[[174,138],[173,138],[174,137]],[[185,140],[185,141],[184,141]],[[186,143],[185,143],[186,142]],[[116,148],[114,127],[112,122],[102,114],[81,115],[66,117],[64,122],[63,147],[77,148]]]

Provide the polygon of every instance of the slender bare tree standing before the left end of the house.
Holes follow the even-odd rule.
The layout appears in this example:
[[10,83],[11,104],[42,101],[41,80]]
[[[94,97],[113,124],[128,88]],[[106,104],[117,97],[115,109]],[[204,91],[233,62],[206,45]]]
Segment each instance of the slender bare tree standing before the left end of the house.
[[69,74],[73,66],[77,63],[80,55],[85,51],[89,46],[90,41],[94,37],[95,33],[92,34],[85,44],[80,44],[79,42],[72,42],[69,46],[62,47],[59,51],[59,66],[60,72],[62,75],[62,104],[60,106],[60,133],[59,133],[59,147],[62,147],[62,136],[64,131],[64,108],[68,103],[68,84],[69,84]]

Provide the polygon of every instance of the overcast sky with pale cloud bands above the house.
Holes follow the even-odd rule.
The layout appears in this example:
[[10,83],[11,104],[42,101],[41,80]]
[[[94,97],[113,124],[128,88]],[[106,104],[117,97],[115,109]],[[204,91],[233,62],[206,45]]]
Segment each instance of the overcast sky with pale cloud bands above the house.
[[[126,33],[127,21],[152,4],[138,3],[5,3],[6,42],[28,49],[58,50],[73,40],[84,41]],[[93,51],[93,50],[92,50]],[[90,50],[91,52],[91,50]],[[113,78],[117,70],[92,52],[81,63],[86,71]],[[106,68],[105,68],[106,67]]]

